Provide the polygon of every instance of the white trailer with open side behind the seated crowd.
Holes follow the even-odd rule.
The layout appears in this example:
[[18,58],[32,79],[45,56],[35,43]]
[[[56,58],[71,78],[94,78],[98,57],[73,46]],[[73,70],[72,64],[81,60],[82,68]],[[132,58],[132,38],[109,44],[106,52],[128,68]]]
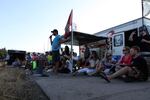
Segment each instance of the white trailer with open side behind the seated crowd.
[[150,19],[148,18],[138,18],[132,20],[130,22],[106,29],[104,31],[100,31],[95,33],[96,36],[107,36],[109,32],[113,31],[114,34],[112,35],[112,54],[113,56],[121,56],[122,49],[124,46],[131,47],[129,43],[129,36],[132,31],[136,31],[139,35],[139,28],[143,25],[146,26],[148,33],[150,31]]

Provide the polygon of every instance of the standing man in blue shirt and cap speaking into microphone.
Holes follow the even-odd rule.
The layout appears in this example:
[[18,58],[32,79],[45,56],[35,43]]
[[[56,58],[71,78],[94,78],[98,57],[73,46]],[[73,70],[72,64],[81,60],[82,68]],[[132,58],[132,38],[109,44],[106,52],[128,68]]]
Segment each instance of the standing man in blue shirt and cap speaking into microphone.
[[[62,37],[58,34],[58,30],[54,29],[51,31],[53,33],[49,38],[52,46],[52,63],[53,63],[53,71],[57,72],[59,69],[59,63],[60,63],[60,53],[59,50],[61,48],[61,43],[64,43],[67,41],[67,39],[62,39]],[[52,36],[55,36],[55,38],[52,40]]]

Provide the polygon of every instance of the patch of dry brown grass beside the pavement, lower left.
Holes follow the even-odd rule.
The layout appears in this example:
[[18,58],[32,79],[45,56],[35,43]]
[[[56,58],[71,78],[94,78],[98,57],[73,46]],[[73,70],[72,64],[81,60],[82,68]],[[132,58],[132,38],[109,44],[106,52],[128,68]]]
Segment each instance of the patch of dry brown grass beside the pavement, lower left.
[[49,100],[24,69],[0,68],[0,100]]

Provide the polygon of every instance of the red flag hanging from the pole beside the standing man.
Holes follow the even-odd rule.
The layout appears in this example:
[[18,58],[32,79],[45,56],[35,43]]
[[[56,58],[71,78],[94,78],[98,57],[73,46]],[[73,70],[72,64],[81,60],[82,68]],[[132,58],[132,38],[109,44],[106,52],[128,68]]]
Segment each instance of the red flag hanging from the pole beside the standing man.
[[71,10],[66,27],[65,27],[65,34],[64,34],[64,38],[67,38],[70,36],[69,32],[71,32],[72,30],[72,17],[73,17],[73,10]]

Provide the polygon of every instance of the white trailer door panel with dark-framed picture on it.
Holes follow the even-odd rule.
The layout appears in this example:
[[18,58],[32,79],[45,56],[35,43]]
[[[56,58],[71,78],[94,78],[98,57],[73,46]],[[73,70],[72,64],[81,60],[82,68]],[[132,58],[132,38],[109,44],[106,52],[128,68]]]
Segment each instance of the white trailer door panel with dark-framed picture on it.
[[112,37],[112,53],[113,56],[122,55],[122,49],[125,46],[124,32],[114,34]]

